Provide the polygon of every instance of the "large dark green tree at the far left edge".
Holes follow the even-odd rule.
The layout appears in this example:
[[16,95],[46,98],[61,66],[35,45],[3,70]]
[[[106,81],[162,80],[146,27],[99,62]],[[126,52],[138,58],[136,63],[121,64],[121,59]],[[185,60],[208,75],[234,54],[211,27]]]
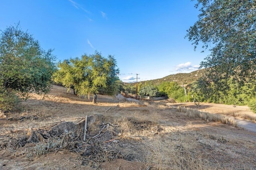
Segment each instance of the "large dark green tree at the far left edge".
[[[31,90],[38,94],[49,92],[54,60],[52,49],[44,51],[38,40],[22,31],[19,23],[7,27],[0,32],[1,91],[19,92],[23,97],[28,97]],[[0,105],[3,100],[1,96]]]

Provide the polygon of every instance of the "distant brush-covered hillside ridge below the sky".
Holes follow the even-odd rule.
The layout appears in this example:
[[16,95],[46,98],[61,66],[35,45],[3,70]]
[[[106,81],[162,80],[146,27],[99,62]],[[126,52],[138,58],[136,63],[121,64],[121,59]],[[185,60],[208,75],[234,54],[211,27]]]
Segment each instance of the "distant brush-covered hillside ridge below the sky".
[[[177,74],[170,74],[169,76],[165,76],[163,78],[158,78],[154,80],[146,80],[146,81],[141,81],[142,84],[145,82],[153,83],[154,85],[159,85],[162,82],[177,82],[178,84],[184,83],[190,84],[192,82],[195,82],[198,77],[202,76],[204,74],[205,69],[201,70],[196,70],[190,73],[177,73]],[[131,84],[136,84],[136,82],[132,82]]]

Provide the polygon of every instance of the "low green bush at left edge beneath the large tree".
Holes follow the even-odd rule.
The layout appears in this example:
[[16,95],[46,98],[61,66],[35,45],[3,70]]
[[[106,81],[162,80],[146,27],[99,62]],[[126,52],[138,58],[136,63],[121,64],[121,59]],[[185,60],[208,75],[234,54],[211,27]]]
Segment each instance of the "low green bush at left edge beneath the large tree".
[[0,110],[12,110],[19,102],[18,96],[11,89],[0,86]]

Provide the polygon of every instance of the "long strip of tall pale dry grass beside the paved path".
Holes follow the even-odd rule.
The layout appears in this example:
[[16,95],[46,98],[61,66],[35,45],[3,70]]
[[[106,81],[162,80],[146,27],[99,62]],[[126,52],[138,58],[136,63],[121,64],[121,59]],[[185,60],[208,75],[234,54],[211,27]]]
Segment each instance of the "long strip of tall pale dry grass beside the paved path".
[[205,121],[214,121],[220,122],[228,125],[232,125],[234,127],[238,127],[236,120],[233,117],[228,117],[225,115],[213,114],[208,112],[198,111],[197,109],[190,109],[182,106],[178,106],[178,111],[182,113],[186,113],[186,116],[190,118],[201,118]]

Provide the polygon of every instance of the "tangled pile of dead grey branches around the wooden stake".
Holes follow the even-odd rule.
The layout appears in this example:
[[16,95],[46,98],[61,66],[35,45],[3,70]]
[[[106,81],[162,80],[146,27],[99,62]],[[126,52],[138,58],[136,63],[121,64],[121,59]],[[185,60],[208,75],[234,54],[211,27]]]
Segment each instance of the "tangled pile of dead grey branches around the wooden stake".
[[[20,137],[10,146],[15,148],[11,154],[13,157],[33,158],[49,152],[66,150],[66,152],[77,153],[81,164],[90,165],[92,168],[97,168],[101,162],[123,158],[120,154],[122,149],[118,145],[120,141],[116,140],[122,138],[118,136],[120,127],[110,122],[102,123],[105,118],[97,116],[99,122],[94,125],[97,130],[88,129],[86,140],[83,139],[80,124],[62,122],[45,129],[30,128],[27,134],[20,134]],[[7,144],[1,145],[1,148],[8,149]]]

